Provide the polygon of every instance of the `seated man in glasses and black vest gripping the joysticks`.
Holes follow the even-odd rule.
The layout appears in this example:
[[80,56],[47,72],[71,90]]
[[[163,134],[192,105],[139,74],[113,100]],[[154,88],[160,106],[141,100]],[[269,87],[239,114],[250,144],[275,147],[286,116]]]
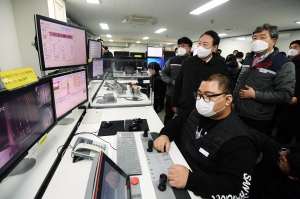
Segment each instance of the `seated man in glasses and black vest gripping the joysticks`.
[[213,74],[198,88],[196,109],[186,121],[178,116],[161,130],[154,148],[168,152],[176,141],[192,171],[174,164],[168,172],[169,184],[186,188],[204,198],[244,198],[257,159],[255,133],[231,110],[231,81]]

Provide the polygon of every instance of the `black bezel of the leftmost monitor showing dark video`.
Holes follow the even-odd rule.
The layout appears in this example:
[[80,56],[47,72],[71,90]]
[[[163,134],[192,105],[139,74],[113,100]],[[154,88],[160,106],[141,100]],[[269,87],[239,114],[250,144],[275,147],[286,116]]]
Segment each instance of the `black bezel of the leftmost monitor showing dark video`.
[[[10,94],[14,94],[16,92],[19,92],[20,89],[26,89],[26,88],[32,88],[32,87],[36,87],[36,86],[39,86],[39,85],[42,85],[44,83],[47,83],[49,82],[50,84],[50,89],[51,91],[53,90],[53,84],[52,84],[52,80],[51,78],[49,77],[44,77],[44,78],[41,78],[39,79],[38,82],[35,82],[33,84],[30,84],[30,85],[26,85],[26,86],[22,86],[18,89],[15,89],[15,90],[12,90],[12,91],[8,91],[6,89],[4,90],[1,90],[0,91],[0,98],[2,98],[3,96],[6,96],[6,95],[10,95]],[[4,170],[3,173],[1,174],[0,173],[0,182],[2,182],[3,179],[5,179],[7,177],[7,175],[28,155],[28,151],[47,133],[49,133],[53,127],[55,127],[55,125],[57,124],[57,120],[56,120],[56,111],[55,111],[55,102],[54,102],[54,95],[53,95],[53,92],[51,92],[51,99],[52,99],[52,102],[53,102],[53,106],[52,106],[52,111],[53,111],[53,119],[54,119],[54,122],[52,125],[50,125],[48,127],[48,129],[46,131],[44,131],[40,136],[38,136],[34,141],[32,141],[30,144],[28,144],[28,147],[26,150],[24,150],[21,154],[19,154],[18,157],[16,158],[12,158],[10,159],[5,165],[3,165],[1,167],[0,170]]]

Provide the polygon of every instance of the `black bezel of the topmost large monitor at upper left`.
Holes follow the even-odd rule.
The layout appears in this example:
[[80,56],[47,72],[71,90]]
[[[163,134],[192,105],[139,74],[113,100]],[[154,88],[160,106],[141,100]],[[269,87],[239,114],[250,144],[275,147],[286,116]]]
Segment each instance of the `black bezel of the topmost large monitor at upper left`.
[[39,31],[41,29],[41,25],[39,23],[40,20],[45,20],[45,21],[49,21],[49,22],[52,22],[52,23],[57,23],[57,24],[61,24],[61,25],[64,25],[64,26],[69,26],[71,28],[76,28],[76,29],[80,29],[80,30],[83,30],[84,33],[85,33],[85,48],[87,48],[87,31],[85,28],[83,27],[80,27],[80,26],[74,26],[74,25],[71,25],[71,24],[68,24],[68,23],[65,23],[65,22],[62,22],[62,21],[59,21],[59,20],[55,20],[55,19],[52,19],[52,18],[49,18],[49,17],[45,17],[45,16],[41,16],[41,15],[38,15],[38,14],[35,14],[34,15],[34,23],[35,23],[35,32],[36,32],[36,38],[37,38],[37,43],[36,43],[36,46],[37,46],[37,49],[38,49],[38,54],[39,54],[39,63],[40,63],[40,69],[42,71],[46,71],[46,70],[54,70],[54,69],[60,69],[60,68],[70,68],[70,67],[76,67],[76,66],[84,66],[88,63],[88,57],[87,57],[87,49],[85,49],[85,56],[86,56],[86,61],[85,63],[83,64],[78,64],[78,65],[67,65],[67,66],[57,66],[57,67],[51,67],[51,68],[46,68],[45,67],[45,60],[44,60],[44,51],[43,51],[43,45],[42,45],[42,35],[41,35],[41,32]]

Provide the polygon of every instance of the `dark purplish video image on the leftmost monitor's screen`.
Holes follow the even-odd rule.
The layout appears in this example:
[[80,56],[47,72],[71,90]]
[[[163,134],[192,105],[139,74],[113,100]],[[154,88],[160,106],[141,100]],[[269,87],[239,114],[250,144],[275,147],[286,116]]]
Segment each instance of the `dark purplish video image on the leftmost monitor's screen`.
[[54,123],[50,88],[47,82],[0,99],[0,168]]

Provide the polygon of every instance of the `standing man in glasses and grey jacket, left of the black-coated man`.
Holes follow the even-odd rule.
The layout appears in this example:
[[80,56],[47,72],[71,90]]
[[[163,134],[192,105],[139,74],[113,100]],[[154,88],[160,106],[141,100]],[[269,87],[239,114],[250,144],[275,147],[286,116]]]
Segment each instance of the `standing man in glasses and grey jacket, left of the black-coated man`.
[[166,62],[165,66],[161,71],[161,80],[167,84],[166,115],[164,119],[165,125],[174,116],[174,112],[171,106],[171,97],[173,95],[173,87],[175,86],[175,79],[177,77],[182,62],[186,58],[190,57],[190,51],[192,49],[193,42],[187,37],[182,37],[178,39],[177,44],[178,44],[177,55],[170,58]]

